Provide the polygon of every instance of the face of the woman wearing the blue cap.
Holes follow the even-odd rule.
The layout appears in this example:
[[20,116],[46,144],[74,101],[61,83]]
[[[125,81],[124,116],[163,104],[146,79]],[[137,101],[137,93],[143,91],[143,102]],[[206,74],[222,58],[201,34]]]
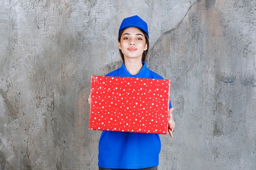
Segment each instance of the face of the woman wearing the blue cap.
[[121,35],[118,47],[124,54],[124,59],[135,58],[141,61],[143,52],[148,49],[144,33],[136,28],[129,27]]

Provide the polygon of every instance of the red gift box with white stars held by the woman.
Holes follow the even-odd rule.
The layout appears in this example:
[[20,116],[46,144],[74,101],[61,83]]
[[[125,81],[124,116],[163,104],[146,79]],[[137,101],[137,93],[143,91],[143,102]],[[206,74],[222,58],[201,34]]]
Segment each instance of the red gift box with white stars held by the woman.
[[167,134],[168,79],[91,77],[90,130]]

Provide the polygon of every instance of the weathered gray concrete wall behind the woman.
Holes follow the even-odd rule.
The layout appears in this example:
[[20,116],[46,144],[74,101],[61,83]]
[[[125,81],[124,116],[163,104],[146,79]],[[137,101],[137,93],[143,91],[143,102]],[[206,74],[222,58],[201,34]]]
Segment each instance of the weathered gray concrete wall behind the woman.
[[97,169],[90,76],[120,66],[131,15],[172,81],[159,169],[256,169],[255,0],[0,0],[0,170]]

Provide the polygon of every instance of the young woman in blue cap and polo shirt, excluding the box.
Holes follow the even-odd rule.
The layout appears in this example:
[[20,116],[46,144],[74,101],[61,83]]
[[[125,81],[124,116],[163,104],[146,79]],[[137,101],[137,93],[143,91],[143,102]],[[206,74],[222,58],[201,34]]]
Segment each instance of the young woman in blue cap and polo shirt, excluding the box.
[[[163,79],[146,66],[148,46],[146,22],[137,15],[125,18],[118,37],[123,63],[106,76]],[[90,103],[90,97],[88,101]],[[175,121],[171,102],[169,108],[168,131],[173,137]],[[99,170],[157,170],[160,149],[158,134],[102,131],[99,141]]]

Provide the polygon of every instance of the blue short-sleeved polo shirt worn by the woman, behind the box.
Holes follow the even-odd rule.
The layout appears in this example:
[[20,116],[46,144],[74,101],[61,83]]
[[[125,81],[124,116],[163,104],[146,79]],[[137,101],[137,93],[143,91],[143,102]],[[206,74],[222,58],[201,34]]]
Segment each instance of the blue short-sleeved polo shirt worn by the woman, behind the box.
[[[145,62],[136,75],[131,75],[124,63],[106,76],[163,79],[149,70]],[[170,106],[171,108],[171,102]],[[101,168],[140,169],[158,166],[161,141],[158,134],[102,131],[99,140]]]

